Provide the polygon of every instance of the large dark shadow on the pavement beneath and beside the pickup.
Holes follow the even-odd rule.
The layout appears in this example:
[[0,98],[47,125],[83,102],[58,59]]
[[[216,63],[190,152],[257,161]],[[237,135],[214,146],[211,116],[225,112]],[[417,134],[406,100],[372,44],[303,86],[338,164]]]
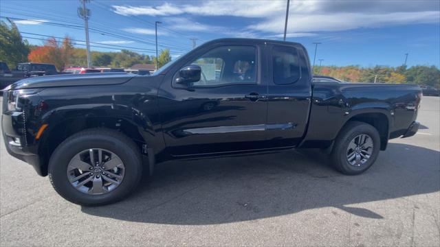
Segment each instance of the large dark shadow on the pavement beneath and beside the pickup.
[[344,176],[327,156],[309,151],[172,161],[159,164],[155,176],[126,200],[82,211],[186,225],[258,220],[320,207],[381,219],[351,204],[437,192],[439,163],[440,152],[400,143],[389,143],[360,176]]

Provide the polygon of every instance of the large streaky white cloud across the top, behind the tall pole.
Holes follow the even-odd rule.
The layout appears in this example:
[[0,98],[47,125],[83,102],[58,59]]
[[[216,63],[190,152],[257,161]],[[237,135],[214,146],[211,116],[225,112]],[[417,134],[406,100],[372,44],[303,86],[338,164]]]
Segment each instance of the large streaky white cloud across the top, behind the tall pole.
[[[285,22],[286,1],[205,1],[197,4],[113,5],[123,15],[168,16],[171,28],[193,32],[216,32],[234,36],[280,36]],[[238,16],[252,21],[243,30],[184,22],[188,16]],[[184,17],[182,17],[184,16]],[[439,23],[440,1],[432,0],[331,0],[291,1],[288,32],[292,37],[317,32],[337,32],[358,28],[387,27],[415,23]],[[305,35],[304,35],[305,34]]]

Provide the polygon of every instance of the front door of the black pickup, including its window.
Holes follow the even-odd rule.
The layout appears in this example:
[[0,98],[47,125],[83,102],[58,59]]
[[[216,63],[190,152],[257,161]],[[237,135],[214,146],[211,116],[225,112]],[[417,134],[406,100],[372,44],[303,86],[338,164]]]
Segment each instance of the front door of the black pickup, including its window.
[[[186,62],[201,67],[188,87],[162,82],[159,110],[167,150],[175,156],[263,148],[267,84],[259,47],[221,45]],[[176,72],[178,73],[178,72]]]

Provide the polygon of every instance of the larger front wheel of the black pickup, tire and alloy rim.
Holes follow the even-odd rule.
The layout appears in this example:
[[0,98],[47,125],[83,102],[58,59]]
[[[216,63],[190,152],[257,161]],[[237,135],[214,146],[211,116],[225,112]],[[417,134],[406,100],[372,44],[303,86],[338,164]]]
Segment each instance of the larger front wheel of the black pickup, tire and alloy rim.
[[85,206],[121,200],[137,187],[141,176],[137,146],[114,130],[78,132],[58,145],[49,162],[49,178],[56,192]]

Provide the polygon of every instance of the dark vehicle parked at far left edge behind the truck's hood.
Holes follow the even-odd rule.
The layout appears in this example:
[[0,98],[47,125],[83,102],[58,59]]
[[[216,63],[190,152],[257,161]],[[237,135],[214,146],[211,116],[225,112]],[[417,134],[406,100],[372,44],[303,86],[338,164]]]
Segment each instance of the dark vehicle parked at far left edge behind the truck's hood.
[[8,64],[5,64],[5,62],[2,62],[2,64],[3,65],[1,66],[6,68],[6,71],[9,72],[0,73],[0,89],[3,89],[5,86],[17,82],[23,78],[58,74],[54,64],[22,62],[17,64],[17,67],[13,71],[9,70]]

